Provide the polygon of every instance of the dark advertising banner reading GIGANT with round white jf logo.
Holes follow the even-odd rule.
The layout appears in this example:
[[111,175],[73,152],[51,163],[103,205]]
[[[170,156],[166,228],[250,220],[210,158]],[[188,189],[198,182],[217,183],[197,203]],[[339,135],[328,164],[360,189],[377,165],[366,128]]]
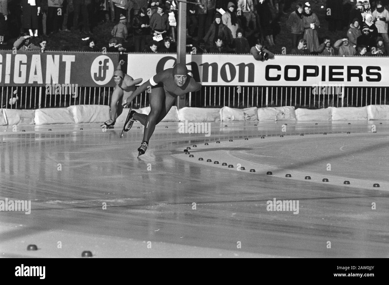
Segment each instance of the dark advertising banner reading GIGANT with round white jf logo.
[[0,52],[0,86],[72,84],[115,86],[112,79],[119,54],[86,52]]

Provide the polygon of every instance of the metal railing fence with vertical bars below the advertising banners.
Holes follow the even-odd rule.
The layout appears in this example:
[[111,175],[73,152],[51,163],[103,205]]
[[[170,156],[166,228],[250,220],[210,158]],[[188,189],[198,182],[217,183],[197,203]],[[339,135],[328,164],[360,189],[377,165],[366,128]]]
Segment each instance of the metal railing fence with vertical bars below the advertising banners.
[[[2,108],[59,108],[79,104],[109,105],[114,87],[78,87],[77,96],[46,94],[45,87],[0,87]],[[313,94],[312,87],[292,86],[203,86],[186,95],[186,106],[231,108],[295,106],[319,109],[333,107],[363,107],[389,104],[389,87],[342,87],[342,95]],[[16,96],[18,97],[16,99]],[[149,106],[146,92],[133,101],[134,108]]]

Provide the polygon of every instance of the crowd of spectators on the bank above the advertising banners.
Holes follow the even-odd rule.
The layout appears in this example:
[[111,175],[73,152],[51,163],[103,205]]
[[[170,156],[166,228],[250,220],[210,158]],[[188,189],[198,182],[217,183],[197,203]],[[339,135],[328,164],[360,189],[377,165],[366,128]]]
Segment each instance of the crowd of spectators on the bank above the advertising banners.
[[[344,33],[332,40],[324,36],[328,33],[312,8],[319,0],[187,2],[187,52],[253,54],[260,46],[261,54],[270,55],[280,23],[289,30],[288,54],[350,56],[389,52],[389,12],[385,8],[388,0],[321,0],[326,5],[321,8],[327,11],[328,30]],[[345,8],[346,2],[354,5],[350,11]],[[176,5],[173,0],[0,0],[0,44],[4,38],[18,35],[14,42],[17,49],[44,52],[51,35],[71,32],[80,33],[79,50],[83,51],[105,48],[107,52],[176,52]],[[295,7],[290,15],[285,10],[289,7]],[[114,23],[109,42],[93,35],[101,22]]]

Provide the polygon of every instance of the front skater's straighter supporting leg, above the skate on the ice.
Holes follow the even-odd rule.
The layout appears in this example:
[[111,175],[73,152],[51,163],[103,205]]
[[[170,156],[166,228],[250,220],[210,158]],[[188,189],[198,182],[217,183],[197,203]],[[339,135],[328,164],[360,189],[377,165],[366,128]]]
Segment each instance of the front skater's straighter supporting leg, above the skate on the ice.
[[150,113],[145,120],[143,141],[149,142],[163,106],[165,105],[165,90],[162,87],[152,89],[149,96]]

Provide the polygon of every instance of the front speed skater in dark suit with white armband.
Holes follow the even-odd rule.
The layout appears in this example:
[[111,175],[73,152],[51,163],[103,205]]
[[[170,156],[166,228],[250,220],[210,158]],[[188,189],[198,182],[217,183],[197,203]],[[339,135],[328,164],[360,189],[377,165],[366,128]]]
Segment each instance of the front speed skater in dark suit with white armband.
[[133,99],[139,94],[151,88],[151,92],[149,93],[149,115],[131,111],[124,124],[125,132],[131,129],[135,121],[139,121],[145,126],[143,141],[138,148],[139,155],[143,155],[146,152],[155,125],[165,118],[170,108],[172,108],[175,98],[201,89],[202,85],[187,73],[188,70],[185,64],[178,63],[173,68],[168,68],[152,76],[127,98],[126,106],[130,105]]

